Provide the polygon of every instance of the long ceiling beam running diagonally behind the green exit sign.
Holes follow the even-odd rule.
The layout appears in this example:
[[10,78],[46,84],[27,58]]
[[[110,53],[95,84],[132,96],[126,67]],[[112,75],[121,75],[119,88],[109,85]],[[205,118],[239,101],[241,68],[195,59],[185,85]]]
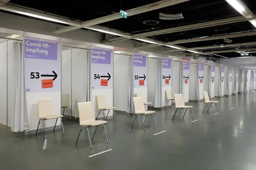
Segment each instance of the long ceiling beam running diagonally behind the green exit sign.
[[[182,3],[182,2],[187,2],[187,1],[189,1],[189,0],[161,0],[161,1],[158,1],[158,2],[154,2],[152,4],[139,6],[137,8],[127,10],[126,12],[128,13],[128,17],[129,17],[129,16],[141,14],[141,13],[144,13],[144,12],[149,12],[149,11],[152,11],[152,10],[164,8],[164,7],[167,7],[167,6],[172,6],[172,5],[175,5],[175,4]],[[96,19],[93,19],[93,20],[85,21],[85,22],[81,23],[81,25],[78,26],[78,27],[68,26],[68,27],[64,27],[62,29],[58,29],[56,31],[53,31],[52,33],[54,33],[54,34],[65,33],[67,31],[81,29],[83,27],[89,27],[89,26],[92,26],[92,25],[100,24],[100,23],[106,23],[108,21],[117,20],[117,19],[120,19],[120,18],[121,18],[120,13],[118,12],[118,13],[111,14],[111,15],[108,15],[108,16],[103,16],[103,17],[96,18]]]

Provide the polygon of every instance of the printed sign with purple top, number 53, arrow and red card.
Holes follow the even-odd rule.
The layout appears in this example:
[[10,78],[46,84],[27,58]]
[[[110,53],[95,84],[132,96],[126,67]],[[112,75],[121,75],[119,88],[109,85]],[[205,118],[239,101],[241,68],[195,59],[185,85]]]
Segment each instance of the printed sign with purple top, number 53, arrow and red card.
[[26,92],[61,91],[60,41],[24,37]]

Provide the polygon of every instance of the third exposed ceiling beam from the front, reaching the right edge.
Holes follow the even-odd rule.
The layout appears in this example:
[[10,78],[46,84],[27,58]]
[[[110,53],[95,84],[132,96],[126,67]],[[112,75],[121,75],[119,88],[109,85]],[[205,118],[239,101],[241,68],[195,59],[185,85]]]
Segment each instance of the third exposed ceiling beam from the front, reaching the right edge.
[[[231,34],[228,34],[228,35],[219,35],[219,36],[204,37],[204,38],[197,37],[197,38],[191,38],[191,39],[181,39],[181,40],[173,41],[173,42],[170,42],[170,43],[165,43],[164,45],[193,43],[193,42],[198,42],[198,41],[210,41],[210,40],[234,38],[234,37],[246,37],[246,36],[252,36],[252,35],[256,35],[256,31],[248,31],[248,32],[244,32],[244,33],[231,33]],[[140,45],[140,46],[137,46],[136,48],[157,47],[157,46],[160,46],[160,45],[156,45],[156,44]]]

